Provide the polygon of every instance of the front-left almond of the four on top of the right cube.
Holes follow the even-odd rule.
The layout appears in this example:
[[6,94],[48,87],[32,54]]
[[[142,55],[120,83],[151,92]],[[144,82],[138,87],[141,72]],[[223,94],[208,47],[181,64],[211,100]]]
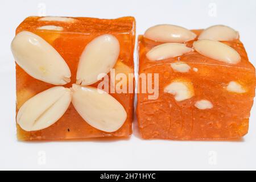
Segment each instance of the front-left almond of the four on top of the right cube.
[[165,43],[152,48],[147,52],[147,59],[151,61],[158,61],[168,59],[170,57],[181,56],[184,53],[192,51],[192,48],[180,43]]

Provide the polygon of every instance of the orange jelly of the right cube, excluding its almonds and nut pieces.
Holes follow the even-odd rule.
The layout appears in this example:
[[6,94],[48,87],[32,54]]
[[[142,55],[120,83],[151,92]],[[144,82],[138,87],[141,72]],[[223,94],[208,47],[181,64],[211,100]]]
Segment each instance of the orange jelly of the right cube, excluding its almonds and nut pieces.
[[[193,30],[197,36],[201,31]],[[193,41],[185,44],[192,47]],[[255,68],[240,40],[222,43],[236,49],[241,56],[240,63],[226,64],[196,51],[150,61],[146,53],[161,43],[139,36],[139,74],[159,73],[159,97],[156,100],[148,99],[152,95],[148,92],[138,93],[137,116],[144,139],[230,140],[247,133],[255,96]],[[170,65],[175,61],[183,61],[191,69],[186,73],[175,72]],[[164,88],[176,79],[191,82],[195,96],[176,101],[172,94],[164,93]],[[239,82],[247,92],[228,92],[226,86],[230,81]],[[142,92],[142,86],[140,81],[138,92]],[[212,102],[213,108],[198,109],[195,103],[199,100]]]

